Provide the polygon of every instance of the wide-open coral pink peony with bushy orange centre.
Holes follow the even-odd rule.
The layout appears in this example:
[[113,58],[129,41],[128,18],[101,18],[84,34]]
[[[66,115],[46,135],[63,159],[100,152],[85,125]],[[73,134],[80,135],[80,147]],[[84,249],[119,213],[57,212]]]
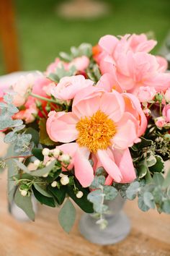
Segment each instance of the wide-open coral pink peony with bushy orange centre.
[[72,112],[51,111],[47,121],[50,139],[68,143],[63,151],[72,152],[75,175],[83,187],[94,179],[89,157],[97,158],[115,182],[135,179],[128,147],[138,140],[138,129],[138,120],[126,110],[120,93],[91,86],[76,94]]

